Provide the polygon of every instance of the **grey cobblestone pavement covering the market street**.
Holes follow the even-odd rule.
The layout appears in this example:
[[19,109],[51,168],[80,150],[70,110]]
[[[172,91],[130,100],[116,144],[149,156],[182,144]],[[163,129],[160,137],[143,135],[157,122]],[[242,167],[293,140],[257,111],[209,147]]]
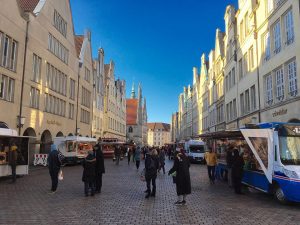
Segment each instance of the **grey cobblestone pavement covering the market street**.
[[174,205],[175,185],[167,175],[158,175],[157,196],[145,199],[141,168],[127,160],[119,166],[106,160],[105,167],[102,193],[94,197],[84,196],[80,165],[64,168],[52,195],[47,168],[30,171],[16,184],[0,180],[0,224],[300,224],[299,204],[283,206],[254,191],[237,196],[222,182],[210,185],[203,165],[191,166],[192,194],[185,206]]

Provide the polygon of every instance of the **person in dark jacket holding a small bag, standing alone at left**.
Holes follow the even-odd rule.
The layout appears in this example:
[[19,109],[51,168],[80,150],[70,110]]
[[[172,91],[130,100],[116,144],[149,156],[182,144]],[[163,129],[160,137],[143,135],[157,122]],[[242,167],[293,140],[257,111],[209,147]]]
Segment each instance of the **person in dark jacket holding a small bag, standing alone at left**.
[[58,173],[60,170],[61,162],[58,157],[57,146],[51,145],[51,152],[48,155],[48,167],[49,173],[52,181],[51,192],[55,193],[58,185]]

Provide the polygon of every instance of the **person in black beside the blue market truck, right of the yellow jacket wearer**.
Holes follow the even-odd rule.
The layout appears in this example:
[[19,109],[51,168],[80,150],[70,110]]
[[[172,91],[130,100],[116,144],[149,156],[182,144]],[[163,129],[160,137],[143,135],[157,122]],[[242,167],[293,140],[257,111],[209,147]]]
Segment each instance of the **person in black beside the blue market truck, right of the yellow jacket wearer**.
[[243,157],[240,156],[239,150],[235,148],[232,160],[232,183],[236,194],[242,194],[243,167]]

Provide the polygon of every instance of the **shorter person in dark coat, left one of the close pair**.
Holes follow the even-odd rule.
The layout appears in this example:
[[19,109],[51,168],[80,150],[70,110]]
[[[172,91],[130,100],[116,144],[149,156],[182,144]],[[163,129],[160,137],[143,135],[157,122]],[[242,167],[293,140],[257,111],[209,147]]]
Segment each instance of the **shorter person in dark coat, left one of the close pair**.
[[82,181],[84,182],[85,196],[89,196],[89,189],[91,189],[91,196],[94,196],[96,180],[96,158],[93,151],[88,152],[88,155],[82,162],[82,166]]

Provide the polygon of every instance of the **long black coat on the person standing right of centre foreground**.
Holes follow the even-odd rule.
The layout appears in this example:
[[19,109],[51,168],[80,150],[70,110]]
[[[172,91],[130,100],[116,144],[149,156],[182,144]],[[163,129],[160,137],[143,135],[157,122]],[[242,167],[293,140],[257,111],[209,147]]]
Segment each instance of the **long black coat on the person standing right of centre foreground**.
[[176,171],[176,191],[177,195],[191,194],[190,162],[188,158],[179,153],[174,160],[174,165],[169,171],[169,175]]

